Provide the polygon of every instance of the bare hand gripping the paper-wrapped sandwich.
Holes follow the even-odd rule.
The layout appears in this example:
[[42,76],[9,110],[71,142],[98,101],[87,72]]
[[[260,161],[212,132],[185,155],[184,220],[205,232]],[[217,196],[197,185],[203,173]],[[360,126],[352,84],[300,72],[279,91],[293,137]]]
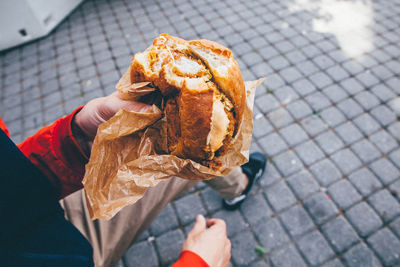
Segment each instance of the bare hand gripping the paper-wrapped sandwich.
[[74,118],[74,124],[83,132],[84,138],[76,133],[75,125],[72,127],[74,136],[81,148],[87,153],[90,151],[91,143],[96,136],[99,125],[114,116],[120,109],[146,112],[150,107],[150,105],[144,103],[122,100],[118,92],[106,97],[95,98],[89,101]]

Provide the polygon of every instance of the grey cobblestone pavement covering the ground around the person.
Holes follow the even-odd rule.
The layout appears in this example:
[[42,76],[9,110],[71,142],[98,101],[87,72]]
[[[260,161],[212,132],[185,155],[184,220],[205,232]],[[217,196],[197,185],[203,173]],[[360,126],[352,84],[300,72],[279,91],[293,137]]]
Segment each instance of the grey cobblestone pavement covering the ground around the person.
[[0,114],[19,142],[113,92],[159,33],[221,42],[245,80],[267,77],[252,151],[268,171],[235,212],[198,184],[120,265],[171,264],[198,211],[227,221],[233,266],[398,265],[399,29],[395,0],[87,1],[48,37],[0,54]]

